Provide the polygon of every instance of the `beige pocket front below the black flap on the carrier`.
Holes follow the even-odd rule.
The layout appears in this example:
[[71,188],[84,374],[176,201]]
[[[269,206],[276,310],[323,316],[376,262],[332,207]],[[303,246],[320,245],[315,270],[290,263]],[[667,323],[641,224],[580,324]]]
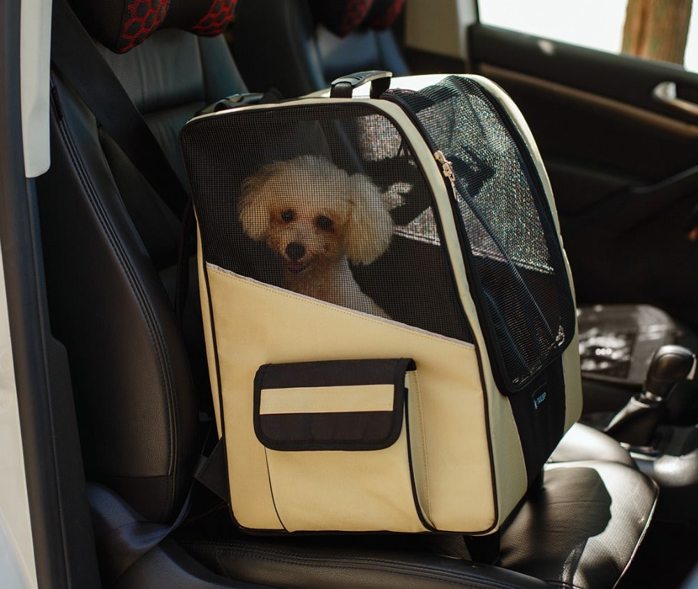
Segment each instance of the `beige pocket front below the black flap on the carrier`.
[[424,532],[412,493],[407,432],[383,450],[267,449],[269,480],[284,528]]

